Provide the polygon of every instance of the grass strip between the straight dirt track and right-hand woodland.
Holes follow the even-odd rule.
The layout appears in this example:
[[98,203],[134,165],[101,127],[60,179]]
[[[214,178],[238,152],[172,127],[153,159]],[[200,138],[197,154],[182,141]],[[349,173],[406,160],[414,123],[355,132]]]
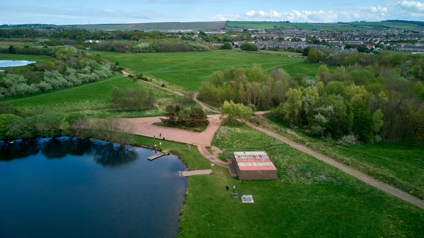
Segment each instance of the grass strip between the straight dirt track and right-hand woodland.
[[419,147],[387,144],[358,144],[345,147],[332,145],[321,137],[311,136],[304,130],[288,129],[284,122],[268,117],[276,123],[261,121],[261,126],[288,139],[335,159],[381,182],[397,187],[424,199],[424,150]]

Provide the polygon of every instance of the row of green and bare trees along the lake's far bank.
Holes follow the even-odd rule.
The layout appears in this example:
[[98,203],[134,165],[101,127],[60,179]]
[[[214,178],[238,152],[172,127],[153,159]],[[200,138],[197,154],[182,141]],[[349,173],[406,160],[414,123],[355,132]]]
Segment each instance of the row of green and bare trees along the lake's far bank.
[[[3,110],[1,110],[3,109]],[[37,137],[95,138],[122,147],[133,142],[134,125],[118,118],[89,119],[85,115],[48,111],[37,116],[4,114],[0,107],[0,140],[28,140]],[[11,109],[13,110],[13,109]]]

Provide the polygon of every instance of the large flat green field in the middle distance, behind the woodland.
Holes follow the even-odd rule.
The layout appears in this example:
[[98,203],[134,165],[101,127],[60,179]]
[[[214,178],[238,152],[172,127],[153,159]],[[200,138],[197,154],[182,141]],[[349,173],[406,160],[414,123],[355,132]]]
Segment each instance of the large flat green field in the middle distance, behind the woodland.
[[[290,75],[304,73],[310,76],[315,76],[320,67],[305,63],[303,59],[235,51],[121,54],[90,50],[90,53],[193,91],[198,90],[202,82],[209,81],[214,71],[230,67],[249,68],[261,64],[264,70],[281,67]],[[332,71],[335,67],[329,69]]]

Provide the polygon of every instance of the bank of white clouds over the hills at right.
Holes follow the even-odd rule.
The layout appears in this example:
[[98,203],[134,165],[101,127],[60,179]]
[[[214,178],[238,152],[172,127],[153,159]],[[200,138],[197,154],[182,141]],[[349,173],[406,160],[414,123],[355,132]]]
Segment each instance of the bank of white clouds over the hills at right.
[[291,10],[279,12],[275,9],[269,11],[250,10],[243,14],[216,15],[209,19],[228,20],[289,20],[300,22],[336,22],[336,21],[355,21],[355,20],[387,20],[387,19],[405,19],[422,20],[424,16],[424,3],[420,1],[403,0],[397,4],[387,5],[369,5],[361,7],[350,7],[340,11],[309,11],[309,10]]

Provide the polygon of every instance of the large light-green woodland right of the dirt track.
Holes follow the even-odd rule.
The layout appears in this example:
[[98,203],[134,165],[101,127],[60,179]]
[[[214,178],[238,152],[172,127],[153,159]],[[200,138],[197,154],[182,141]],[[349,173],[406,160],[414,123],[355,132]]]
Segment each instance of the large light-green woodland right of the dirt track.
[[259,110],[303,126],[312,134],[361,141],[424,144],[424,86],[391,69],[380,75],[373,66],[340,66],[333,74],[323,65],[315,78],[293,77],[260,66],[217,71],[198,97],[221,104],[225,100],[254,104]]

